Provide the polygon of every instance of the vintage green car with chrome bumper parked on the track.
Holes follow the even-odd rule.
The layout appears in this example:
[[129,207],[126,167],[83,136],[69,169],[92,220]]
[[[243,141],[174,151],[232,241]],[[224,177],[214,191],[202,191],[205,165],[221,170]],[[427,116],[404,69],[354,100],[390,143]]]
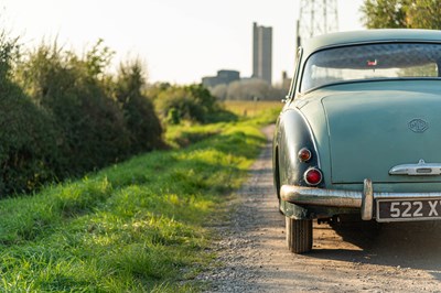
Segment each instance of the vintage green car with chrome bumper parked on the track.
[[441,31],[312,39],[273,139],[273,178],[294,253],[312,220],[441,219]]

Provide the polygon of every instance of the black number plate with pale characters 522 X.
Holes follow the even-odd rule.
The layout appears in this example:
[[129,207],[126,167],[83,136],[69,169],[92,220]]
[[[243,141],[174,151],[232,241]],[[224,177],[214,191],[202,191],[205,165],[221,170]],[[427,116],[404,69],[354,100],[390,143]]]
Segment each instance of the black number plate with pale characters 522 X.
[[441,219],[441,199],[377,199],[377,221]]

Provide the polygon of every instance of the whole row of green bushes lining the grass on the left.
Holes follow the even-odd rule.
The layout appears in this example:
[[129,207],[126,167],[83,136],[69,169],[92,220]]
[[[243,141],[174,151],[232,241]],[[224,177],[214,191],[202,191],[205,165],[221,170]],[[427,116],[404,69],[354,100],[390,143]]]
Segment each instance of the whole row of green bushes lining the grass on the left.
[[79,55],[0,34],[0,197],[163,149],[168,122],[216,110],[198,85],[148,88],[140,59],[110,74],[112,56],[101,40]]

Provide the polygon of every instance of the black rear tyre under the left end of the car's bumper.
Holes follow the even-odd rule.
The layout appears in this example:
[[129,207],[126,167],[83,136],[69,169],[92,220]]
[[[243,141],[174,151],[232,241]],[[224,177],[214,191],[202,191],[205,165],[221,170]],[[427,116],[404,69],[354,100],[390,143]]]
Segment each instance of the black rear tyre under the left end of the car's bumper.
[[304,253],[312,249],[312,220],[286,217],[287,245],[293,253]]

